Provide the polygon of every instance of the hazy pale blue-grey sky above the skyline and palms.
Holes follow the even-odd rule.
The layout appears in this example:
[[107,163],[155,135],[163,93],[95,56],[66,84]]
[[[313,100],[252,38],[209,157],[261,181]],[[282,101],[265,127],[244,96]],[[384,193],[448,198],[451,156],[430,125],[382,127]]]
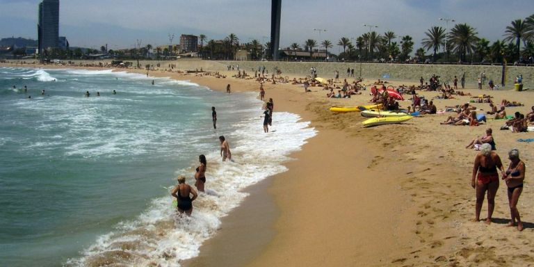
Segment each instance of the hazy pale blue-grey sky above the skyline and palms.
[[[0,38],[37,38],[38,0],[0,0]],[[379,33],[394,31],[412,35],[420,46],[424,32],[443,26],[439,17],[467,23],[478,36],[490,41],[503,38],[513,19],[534,13],[533,0],[282,0],[281,47],[306,39],[337,44],[345,36],[355,38],[374,24]],[[326,29],[319,35],[313,29]],[[270,35],[268,0],[63,0],[60,1],[60,35],[71,46],[110,49],[169,44],[168,33],[205,34],[220,39],[235,33],[241,42]],[[266,36],[264,38],[264,36]],[[332,51],[339,51],[334,46]]]

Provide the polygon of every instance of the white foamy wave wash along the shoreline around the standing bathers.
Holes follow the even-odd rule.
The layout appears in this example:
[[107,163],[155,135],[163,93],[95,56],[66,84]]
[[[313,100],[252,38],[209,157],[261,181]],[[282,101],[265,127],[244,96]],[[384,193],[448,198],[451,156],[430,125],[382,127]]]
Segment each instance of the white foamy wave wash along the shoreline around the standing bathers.
[[[292,113],[274,113],[271,129],[275,131],[264,133],[260,114],[257,109],[257,115],[251,113],[226,136],[237,163],[221,162],[216,150],[206,155],[207,188],[211,193],[201,193],[193,202],[191,218],[176,218],[170,195],[158,198],[136,220],[121,223],[113,232],[97,238],[82,257],[68,260],[67,266],[88,266],[111,259],[111,254],[113,262],[133,266],[180,266],[179,261],[196,257],[200,245],[217,232],[220,218],[246,197],[241,190],[284,172],[282,163],[290,160],[289,153],[316,134],[309,122],[298,122],[300,118]],[[193,184],[192,177],[188,177],[188,183]],[[127,250],[124,242],[130,244]],[[126,256],[118,257],[120,253],[115,252]]]

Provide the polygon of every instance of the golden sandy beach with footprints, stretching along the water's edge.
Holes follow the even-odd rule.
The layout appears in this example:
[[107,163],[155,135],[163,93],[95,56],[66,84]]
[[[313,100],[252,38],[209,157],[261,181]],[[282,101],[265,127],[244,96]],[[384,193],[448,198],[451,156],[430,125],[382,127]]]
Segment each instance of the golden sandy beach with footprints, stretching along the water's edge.
[[[207,71],[221,67],[200,60],[176,64],[178,70],[193,70],[195,64]],[[149,75],[188,80],[221,91],[230,84],[232,93],[259,92],[254,79],[232,77],[237,71],[220,73],[227,78],[164,71],[150,71]],[[289,79],[302,77],[286,75]],[[369,88],[373,81],[365,79],[364,84]],[[418,83],[388,82],[393,86]],[[302,85],[266,83],[264,88],[266,98],[275,102],[275,112],[297,113],[302,120],[311,121],[318,134],[291,155],[294,160],[285,164],[287,172],[252,186],[250,197],[223,220],[222,229],[204,244],[199,257],[185,266],[534,266],[530,165],[534,153],[532,143],[517,141],[534,138],[534,133],[500,131],[502,120],[487,120],[478,127],[440,125],[454,115],[451,112],[364,128],[359,113],[331,113],[328,108],[368,104],[369,90],[350,99],[332,99],[325,97],[321,87],[304,92]],[[492,95],[496,104],[502,99],[525,104],[506,108],[508,115],[528,113],[534,105],[532,90],[466,88],[464,92]],[[418,94],[431,99],[437,92]],[[434,102],[442,109],[471,100],[469,96],[455,97]],[[403,107],[410,103],[400,102]],[[478,113],[489,110],[488,104],[473,105],[483,110]],[[477,152],[464,147],[469,140],[483,136],[488,127],[494,130],[496,152],[505,168],[512,147],[519,149],[526,164],[518,204],[523,232],[506,227],[510,211],[503,181],[496,195],[493,223],[471,222],[475,191],[470,181]],[[486,211],[487,202],[482,218]]]

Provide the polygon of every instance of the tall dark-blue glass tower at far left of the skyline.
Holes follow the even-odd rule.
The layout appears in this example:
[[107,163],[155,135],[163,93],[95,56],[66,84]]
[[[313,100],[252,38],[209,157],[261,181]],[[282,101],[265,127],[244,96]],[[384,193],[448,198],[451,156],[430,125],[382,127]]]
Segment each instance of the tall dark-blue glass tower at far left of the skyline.
[[59,47],[59,0],[42,0],[39,3],[39,53]]

